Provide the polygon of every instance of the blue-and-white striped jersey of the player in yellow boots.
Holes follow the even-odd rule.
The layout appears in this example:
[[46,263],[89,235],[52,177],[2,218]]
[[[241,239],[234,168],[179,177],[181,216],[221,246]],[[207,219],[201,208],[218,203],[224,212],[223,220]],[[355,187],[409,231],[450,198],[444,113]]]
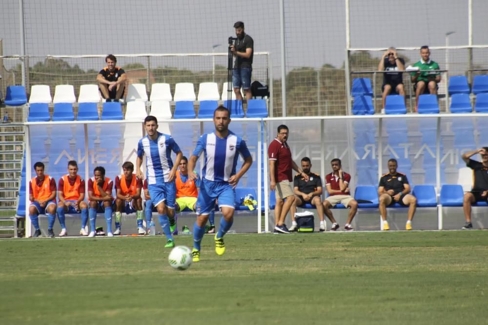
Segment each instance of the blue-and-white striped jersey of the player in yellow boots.
[[192,154],[199,157],[202,151],[205,153],[202,179],[220,182],[228,182],[236,173],[238,153],[244,159],[251,155],[242,137],[230,131],[225,138],[215,133],[203,134]]

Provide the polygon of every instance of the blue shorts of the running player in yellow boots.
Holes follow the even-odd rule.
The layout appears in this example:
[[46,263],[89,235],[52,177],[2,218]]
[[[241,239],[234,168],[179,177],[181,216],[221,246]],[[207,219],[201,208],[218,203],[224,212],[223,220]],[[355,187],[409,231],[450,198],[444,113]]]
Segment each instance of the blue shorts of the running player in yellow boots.
[[227,182],[212,182],[203,179],[197,198],[197,214],[209,214],[214,210],[215,199],[219,201],[219,208],[235,209],[236,191]]

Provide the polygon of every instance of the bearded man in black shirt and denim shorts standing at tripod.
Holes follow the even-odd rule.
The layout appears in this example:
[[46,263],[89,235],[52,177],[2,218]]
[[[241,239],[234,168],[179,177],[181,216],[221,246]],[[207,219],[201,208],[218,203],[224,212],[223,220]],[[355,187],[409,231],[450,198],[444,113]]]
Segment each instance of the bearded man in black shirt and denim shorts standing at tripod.
[[254,41],[244,33],[244,22],[238,21],[234,24],[237,39],[234,45],[230,45],[232,55],[236,57],[232,75],[232,85],[236,99],[242,100],[241,86],[247,100],[251,99],[251,72]]

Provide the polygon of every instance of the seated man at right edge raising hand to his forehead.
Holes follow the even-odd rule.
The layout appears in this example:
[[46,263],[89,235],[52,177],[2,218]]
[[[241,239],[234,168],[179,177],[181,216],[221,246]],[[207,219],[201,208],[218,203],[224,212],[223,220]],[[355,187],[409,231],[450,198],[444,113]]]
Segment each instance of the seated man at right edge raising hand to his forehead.
[[[470,159],[471,156],[479,153],[481,161]],[[488,147],[464,153],[461,158],[466,162],[466,166],[473,170],[474,184],[470,192],[464,194],[463,210],[466,223],[463,229],[471,229],[471,204],[475,202],[488,201]]]

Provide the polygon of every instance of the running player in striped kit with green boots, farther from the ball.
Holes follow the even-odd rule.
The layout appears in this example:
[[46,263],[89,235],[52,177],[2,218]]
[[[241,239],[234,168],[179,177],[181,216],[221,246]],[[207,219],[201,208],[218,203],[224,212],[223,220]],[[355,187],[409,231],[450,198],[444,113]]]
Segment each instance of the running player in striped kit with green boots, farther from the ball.
[[[147,135],[137,145],[136,175],[142,179],[142,156],[146,155],[147,189],[152,203],[158,210],[159,222],[168,240],[164,247],[175,247],[170,224],[176,225],[175,216],[175,176],[183,153],[171,135],[159,133],[158,119],[149,115],[144,119]],[[171,151],[176,153],[175,164]],[[168,218],[169,217],[169,218]]]

